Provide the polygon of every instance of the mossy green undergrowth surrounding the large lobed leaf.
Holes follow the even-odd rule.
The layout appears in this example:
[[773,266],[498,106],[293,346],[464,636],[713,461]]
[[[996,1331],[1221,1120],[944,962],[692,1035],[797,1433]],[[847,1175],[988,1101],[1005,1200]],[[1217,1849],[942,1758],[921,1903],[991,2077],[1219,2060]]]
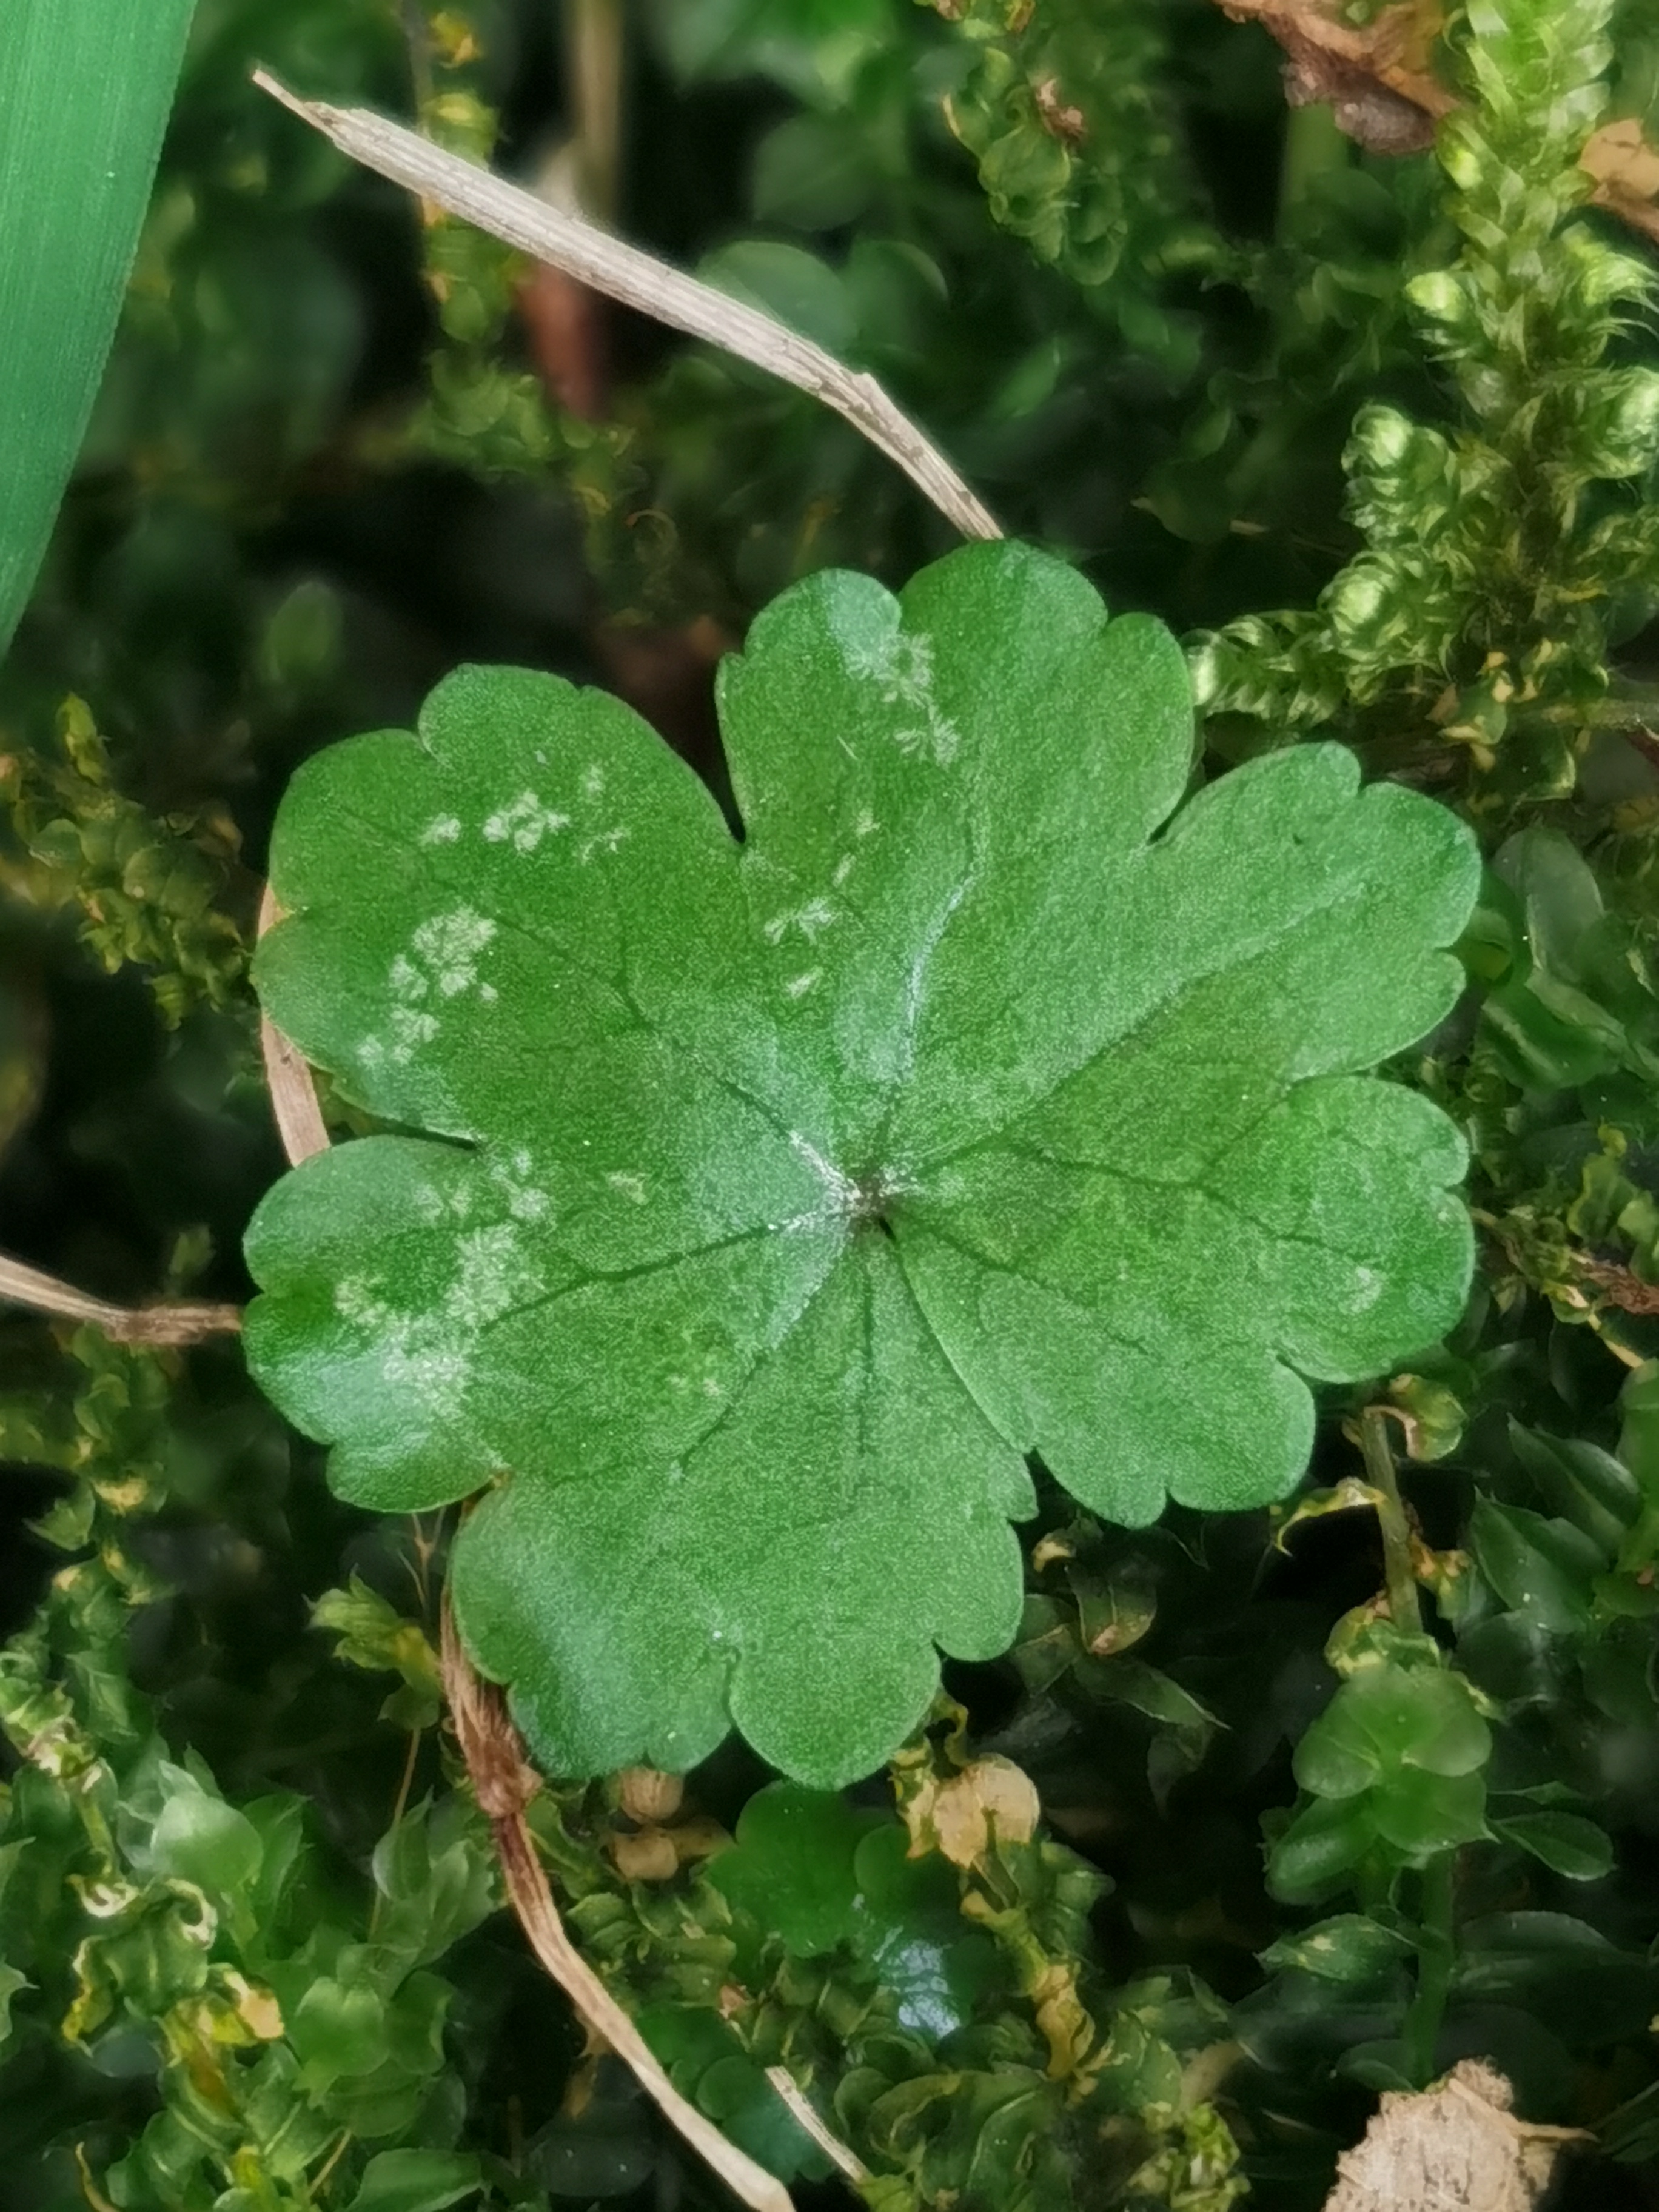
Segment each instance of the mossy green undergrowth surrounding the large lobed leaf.
[[[1048,1498],[1018,1650],[847,1801],[737,1747],[535,1801],[577,1940],[803,2205],[1312,2212],[1469,2053],[1586,2130],[1559,2203],[1659,2203],[1659,29],[1239,13],[201,0],[0,670],[0,1245],[241,1298],[292,768],[511,659],[719,776],[754,608],[949,542],[810,400],[354,173],[263,62],[872,369],[1190,637],[1199,774],[1336,734],[1475,821],[1469,993],[1396,1071],[1471,1139],[1458,1334],[1329,1391],[1276,1515]],[[7,2208],[721,2201],[498,1911],[445,1528],[334,1504],[226,1343],[11,1314],[0,1427]]]

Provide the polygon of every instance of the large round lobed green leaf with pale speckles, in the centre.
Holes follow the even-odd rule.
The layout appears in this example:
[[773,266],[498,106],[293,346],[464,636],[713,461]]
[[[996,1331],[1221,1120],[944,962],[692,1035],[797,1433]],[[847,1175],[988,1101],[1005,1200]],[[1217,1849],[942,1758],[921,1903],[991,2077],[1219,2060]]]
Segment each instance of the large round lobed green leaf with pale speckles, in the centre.
[[1449,1009],[1475,856],[1336,745],[1170,823],[1175,641],[1013,544],[794,586],[719,703],[743,843],[515,670],[294,779],[265,1006],[429,1135],[276,1186],[246,1340],[341,1495],[491,1491],[456,1610],[551,1770],[734,1721],[832,1785],[1013,1637],[1026,1453],[1117,1522],[1259,1504],[1305,1378],[1451,1325],[1462,1141],[1363,1071]]

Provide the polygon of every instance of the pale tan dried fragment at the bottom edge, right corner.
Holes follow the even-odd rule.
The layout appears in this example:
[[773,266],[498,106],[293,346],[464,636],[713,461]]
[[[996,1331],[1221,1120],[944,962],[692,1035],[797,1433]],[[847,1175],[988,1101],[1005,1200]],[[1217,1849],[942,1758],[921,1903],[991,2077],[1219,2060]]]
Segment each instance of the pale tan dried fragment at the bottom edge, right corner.
[[1511,2101],[1480,2059],[1418,2095],[1385,2093],[1365,2141],[1336,2161],[1325,2212],[1533,2212],[1584,2130],[1528,2126]]

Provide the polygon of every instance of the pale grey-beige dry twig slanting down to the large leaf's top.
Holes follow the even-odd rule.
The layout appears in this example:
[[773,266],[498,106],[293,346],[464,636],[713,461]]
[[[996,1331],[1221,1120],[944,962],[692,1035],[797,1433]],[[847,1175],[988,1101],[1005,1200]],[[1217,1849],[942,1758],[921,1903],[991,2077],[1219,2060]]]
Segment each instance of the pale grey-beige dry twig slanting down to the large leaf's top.
[[995,518],[938,447],[887,398],[874,376],[849,369],[759,307],[728,299],[726,292],[639,252],[637,246],[624,246],[584,223],[580,215],[549,208],[533,192],[522,192],[476,161],[431,146],[372,108],[334,108],[321,100],[301,100],[263,69],[254,71],[254,84],[363,168],[436,201],[449,215],[476,223],[478,230],[538,261],[551,261],[566,276],[593,285],[624,307],[637,307],[639,314],[668,323],[670,330],[684,330],[690,338],[721,345],[799,392],[810,392],[896,462],[964,538],[1002,535]]

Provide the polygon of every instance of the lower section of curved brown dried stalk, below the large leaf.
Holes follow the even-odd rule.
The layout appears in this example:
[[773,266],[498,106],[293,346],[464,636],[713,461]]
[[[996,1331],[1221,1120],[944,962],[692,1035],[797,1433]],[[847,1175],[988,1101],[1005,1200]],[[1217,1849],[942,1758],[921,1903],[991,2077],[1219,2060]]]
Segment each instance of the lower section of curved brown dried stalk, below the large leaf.
[[442,1608],[445,1699],[456,1723],[460,1754],[467,1761],[478,1805],[495,1836],[495,1856],[507,1878],[507,1896],[531,1940],[542,1966],[553,1975],[582,2020],[624,2059],[639,2086],[655,2097],[664,2117],[703,2154],[721,2181],[752,2212],[794,2212],[790,2192],[763,2166],[679,2095],[653,2057],[639,2028],[588,1966],[564,1933],[553,1891],[524,1820],[524,1807],[542,1787],[540,1774],[526,1763],[518,1730],[507,1717],[502,1694],[476,1670],[445,1597]]

